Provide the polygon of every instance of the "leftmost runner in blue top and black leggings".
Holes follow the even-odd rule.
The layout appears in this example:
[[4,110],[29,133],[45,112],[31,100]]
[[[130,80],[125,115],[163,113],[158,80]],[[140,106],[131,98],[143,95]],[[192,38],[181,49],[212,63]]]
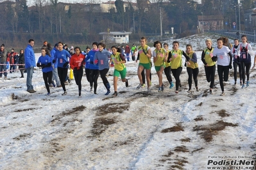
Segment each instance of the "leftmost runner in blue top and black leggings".
[[38,58],[37,66],[42,68],[44,84],[46,85],[47,95],[49,96],[51,94],[49,84],[52,83],[51,79],[53,77],[53,66],[51,66],[51,62],[53,60],[49,55],[47,55],[48,53],[47,50],[48,49],[46,47],[42,47],[41,49],[42,56]]

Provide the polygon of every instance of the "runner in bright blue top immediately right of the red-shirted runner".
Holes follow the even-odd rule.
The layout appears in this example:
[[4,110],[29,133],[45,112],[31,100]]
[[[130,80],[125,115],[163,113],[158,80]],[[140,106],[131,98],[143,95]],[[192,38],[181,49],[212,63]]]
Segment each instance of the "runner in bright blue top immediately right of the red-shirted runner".
[[98,51],[98,43],[92,43],[92,50],[89,51],[85,58],[85,62],[90,59],[90,91],[92,92],[92,86],[94,86],[94,94],[98,95],[97,93],[97,86],[98,86],[98,78],[99,78],[99,65],[98,63],[94,65],[94,55]]

